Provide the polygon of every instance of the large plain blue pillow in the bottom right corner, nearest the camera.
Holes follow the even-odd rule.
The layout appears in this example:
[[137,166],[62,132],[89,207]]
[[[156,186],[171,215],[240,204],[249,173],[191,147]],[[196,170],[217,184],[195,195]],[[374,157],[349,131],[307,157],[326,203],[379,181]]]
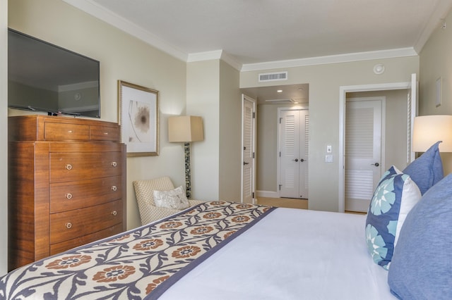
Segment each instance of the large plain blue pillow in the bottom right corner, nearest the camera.
[[400,299],[452,299],[452,174],[408,213],[388,284]]

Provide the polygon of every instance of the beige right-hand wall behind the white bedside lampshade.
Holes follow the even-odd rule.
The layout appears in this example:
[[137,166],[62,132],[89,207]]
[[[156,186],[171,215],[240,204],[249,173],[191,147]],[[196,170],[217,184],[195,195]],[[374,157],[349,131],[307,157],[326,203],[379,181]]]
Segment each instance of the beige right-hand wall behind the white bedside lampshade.
[[[420,53],[419,115],[452,115],[452,13],[439,25]],[[441,77],[441,106],[436,107],[436,79]],[[452,154],[441,154],[444,174],[452,172]]]

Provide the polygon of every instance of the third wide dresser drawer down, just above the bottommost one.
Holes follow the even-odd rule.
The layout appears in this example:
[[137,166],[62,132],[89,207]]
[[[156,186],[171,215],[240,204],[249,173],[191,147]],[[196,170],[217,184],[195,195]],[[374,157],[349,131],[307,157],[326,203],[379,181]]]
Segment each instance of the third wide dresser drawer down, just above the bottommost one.
[[50,214],[50,244],[82,237],[122,222],[122,201]]

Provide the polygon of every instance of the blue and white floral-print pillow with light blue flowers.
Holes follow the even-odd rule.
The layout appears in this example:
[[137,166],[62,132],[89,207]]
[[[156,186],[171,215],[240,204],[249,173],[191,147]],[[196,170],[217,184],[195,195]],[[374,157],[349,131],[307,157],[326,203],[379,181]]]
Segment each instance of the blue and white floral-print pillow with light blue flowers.
[[394,247],[406,216],[421,199],[420,189],[395,166],[387,170],[370,202],[366,242],[374,262],[389,269]]

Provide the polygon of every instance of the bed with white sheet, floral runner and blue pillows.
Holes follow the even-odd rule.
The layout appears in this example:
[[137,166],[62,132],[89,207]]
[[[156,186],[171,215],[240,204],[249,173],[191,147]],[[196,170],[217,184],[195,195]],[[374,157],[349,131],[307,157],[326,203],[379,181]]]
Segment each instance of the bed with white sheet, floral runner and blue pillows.
[[452,299],[451,187],[435,144],[367,215],[203,202],[13,270],[0,299]]

